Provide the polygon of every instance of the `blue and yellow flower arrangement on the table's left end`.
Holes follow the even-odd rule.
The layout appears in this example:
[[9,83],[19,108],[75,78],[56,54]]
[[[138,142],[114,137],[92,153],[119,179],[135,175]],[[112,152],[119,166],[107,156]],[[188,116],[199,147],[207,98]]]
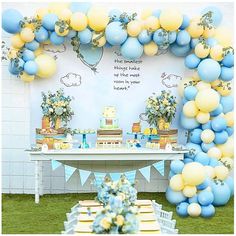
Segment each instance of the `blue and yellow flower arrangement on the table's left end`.
[[65,96],[64,90],[59,89],[56,93],[48,91],[46,94],[42,92],[42,98],[43,102],[41,108],[43,110],[43,115],[48,117],[54,125],[59,118],[66,126],[74,115],[74,112],[70,107],[73,97]]

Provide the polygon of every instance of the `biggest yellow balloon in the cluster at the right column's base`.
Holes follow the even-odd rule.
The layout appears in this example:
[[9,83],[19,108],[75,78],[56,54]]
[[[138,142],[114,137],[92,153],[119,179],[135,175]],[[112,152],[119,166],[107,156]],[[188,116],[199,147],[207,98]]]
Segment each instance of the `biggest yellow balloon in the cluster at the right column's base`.
[[203,183],[206,173],[202,164],[191,162],[184,166],[182,177],[185,185],[195,186]]

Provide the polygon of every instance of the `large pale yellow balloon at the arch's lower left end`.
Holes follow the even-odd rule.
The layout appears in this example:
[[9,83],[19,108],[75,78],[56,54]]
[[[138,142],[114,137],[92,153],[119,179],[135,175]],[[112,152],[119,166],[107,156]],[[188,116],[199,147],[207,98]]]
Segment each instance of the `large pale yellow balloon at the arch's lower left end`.
[[56,72],[56,61],[53,57],[47,54],[40,54],[35,58],[38,65],[37,76],[41,78],[49,78]]

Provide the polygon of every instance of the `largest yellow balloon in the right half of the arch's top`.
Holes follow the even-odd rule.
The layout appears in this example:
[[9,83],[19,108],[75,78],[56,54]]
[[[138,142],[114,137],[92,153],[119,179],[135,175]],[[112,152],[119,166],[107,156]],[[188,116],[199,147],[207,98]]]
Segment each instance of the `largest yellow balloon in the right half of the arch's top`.
[[161,27],[168,31],[177,30],[183,22],[183,15],[176,9],[166,9],[160,14]]

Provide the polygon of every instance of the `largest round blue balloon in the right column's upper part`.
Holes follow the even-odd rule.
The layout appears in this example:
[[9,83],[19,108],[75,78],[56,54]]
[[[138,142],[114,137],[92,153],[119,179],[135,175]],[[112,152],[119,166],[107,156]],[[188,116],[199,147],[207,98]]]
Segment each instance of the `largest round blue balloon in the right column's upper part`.
[[217,61],[207,58],[199,63],[197,71],[201,80],[209,83],[218,79],[221,67]]

